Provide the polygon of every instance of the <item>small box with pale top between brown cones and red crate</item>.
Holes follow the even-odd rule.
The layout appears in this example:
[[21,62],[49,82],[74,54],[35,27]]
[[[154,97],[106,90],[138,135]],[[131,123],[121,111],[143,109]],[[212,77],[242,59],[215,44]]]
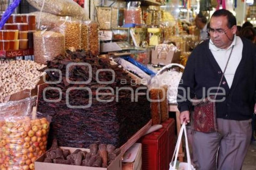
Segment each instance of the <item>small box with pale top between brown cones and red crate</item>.
[[135,143],[123,155],[122,170],[140,170],[142,166],[142,144]]

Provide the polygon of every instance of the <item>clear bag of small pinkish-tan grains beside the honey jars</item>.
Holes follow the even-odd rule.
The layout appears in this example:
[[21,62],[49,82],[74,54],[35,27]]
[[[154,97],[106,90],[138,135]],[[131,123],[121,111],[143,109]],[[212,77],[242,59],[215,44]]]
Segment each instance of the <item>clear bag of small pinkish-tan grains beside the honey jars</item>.
[[46,64],[57,55],[65,55],[64,34],[52,31],[36,31],[33,34],[34,60],[40,64]]

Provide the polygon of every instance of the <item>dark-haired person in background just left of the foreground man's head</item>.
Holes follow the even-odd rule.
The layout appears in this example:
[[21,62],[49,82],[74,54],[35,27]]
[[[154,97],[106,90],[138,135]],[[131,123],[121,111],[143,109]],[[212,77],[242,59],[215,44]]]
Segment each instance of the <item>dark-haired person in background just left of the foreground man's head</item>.
[[200,41],[201,40],[206,40],[208,35],[207,35],[207,19],[204,17],[203,14],[199,13],[195,17],[195,26],[200,29]]

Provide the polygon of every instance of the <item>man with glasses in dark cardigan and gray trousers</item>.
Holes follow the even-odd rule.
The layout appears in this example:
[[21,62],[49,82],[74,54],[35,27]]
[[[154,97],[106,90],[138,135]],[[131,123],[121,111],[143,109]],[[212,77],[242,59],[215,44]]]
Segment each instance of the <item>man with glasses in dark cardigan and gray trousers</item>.
[[250,144],[256,47],[236,36],[236,30],[236,17],[231,12],[215,11],[208,28],[211,39],[192,51],[179,85],[180,122],[187,124],[193,111],[191,99],[214,95],[228,63],[215,102],[218,131],[195,131],[192,135],[192,161],[199,170],[240,170]]

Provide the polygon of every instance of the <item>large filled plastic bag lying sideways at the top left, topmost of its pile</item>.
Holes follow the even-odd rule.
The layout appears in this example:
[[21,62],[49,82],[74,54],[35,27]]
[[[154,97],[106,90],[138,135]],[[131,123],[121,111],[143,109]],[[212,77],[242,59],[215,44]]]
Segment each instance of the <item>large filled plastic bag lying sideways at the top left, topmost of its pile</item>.
[[30,5],[42,12],[60,16],[81,17],[88,20],[85,10],[73,0],[27,0]]

